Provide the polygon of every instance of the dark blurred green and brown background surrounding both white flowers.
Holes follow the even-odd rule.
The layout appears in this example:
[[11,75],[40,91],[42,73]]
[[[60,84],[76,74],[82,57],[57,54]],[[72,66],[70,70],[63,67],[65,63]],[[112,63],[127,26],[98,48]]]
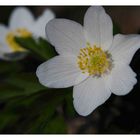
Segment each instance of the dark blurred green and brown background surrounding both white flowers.
[[[0,23],[8,24],[15,7],[0,6]],[[44,9],[57,18],[83,23],[88,6],[32,6],[35,17]],[[140,32],[140,7],[105,6],[114,23],[114,34]],[[17,38],[31,53],[23,60],[0,60],[0,133],[1,134],[135,134],[140,133],[140,51],[131,67],[138,83],[126,96],[115,96],[87,117],[79,116],[72,103],[72,88],[49,89],[38,82],[39,64],[56,55],[45,40]],[[36,46],[36,49],[34,49]],[[45,50],[42,46],[46,46]],[[40,50],[40,51],[38,51]],[[39,53],[40,52],[40,53]],[[44,53],[45,52],[45,53]]]

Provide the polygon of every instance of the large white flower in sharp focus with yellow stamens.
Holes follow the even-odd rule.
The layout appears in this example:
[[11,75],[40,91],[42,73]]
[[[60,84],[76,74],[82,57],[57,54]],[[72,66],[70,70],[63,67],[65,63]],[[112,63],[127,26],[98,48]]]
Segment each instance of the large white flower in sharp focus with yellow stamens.
[[129,64],[140,48],[139,35],[113,37],[112,21],[102,7],[90,7],[84,26],[66,19],[53,19],[47,37],[58,56],[41,64],[37,76],[52,88],[74,86],[76,111],[86,116],[111,95],[125,95],[136,84]]

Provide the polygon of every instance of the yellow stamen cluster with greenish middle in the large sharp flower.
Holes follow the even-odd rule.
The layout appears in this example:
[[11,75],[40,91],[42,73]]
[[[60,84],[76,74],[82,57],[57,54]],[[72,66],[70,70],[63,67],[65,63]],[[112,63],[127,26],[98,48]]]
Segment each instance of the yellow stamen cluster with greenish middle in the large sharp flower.
[[93,76],[101,76],[112,69],[111,54],[89,43],[86,48],[80,49],[77,63],[82,73]]

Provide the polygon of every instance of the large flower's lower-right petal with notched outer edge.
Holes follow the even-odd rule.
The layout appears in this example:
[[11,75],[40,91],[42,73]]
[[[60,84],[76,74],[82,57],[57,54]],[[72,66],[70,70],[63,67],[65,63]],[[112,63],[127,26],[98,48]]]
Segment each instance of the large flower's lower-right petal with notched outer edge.
[[126,95],[137,83],[136,74],[126,64],[118,62],[114,66],[109,76],[111,91],[116,95]]

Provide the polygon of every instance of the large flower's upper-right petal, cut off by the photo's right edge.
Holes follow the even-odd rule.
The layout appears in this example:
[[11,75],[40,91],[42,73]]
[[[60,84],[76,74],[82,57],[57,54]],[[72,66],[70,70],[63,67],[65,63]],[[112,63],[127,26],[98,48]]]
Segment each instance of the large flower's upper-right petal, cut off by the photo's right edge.
[[121,35],[114,37],[110,52],[115,61],[129,64],[135,52],[140,48],[140,35]]

